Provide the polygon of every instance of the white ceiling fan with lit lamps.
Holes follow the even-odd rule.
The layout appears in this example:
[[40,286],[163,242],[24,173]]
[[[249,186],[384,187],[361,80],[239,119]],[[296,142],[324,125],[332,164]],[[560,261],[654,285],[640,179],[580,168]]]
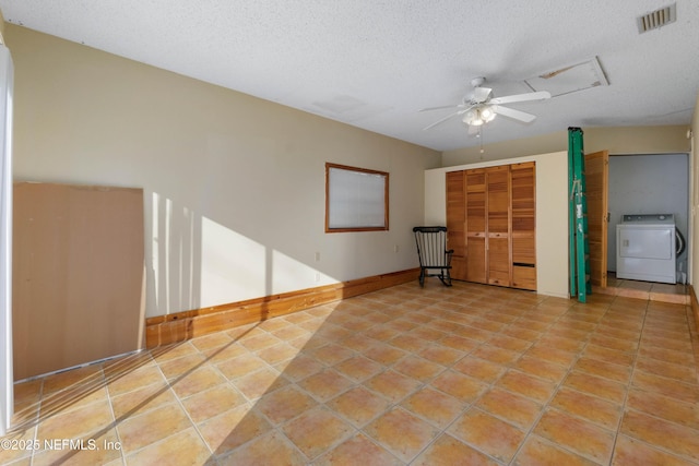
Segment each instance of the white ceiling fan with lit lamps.
[[473,94],[465,96],[463,101],[459,105],[447,105],[441,107],[423,108],[419,111],[439,110],[443,108],[458,108],[455,112],[448,115],[447,117],[435,121],[425,130],[435,128],[436,126],[443,123],[454,117],[462,117],[462,121],[469,126],[469,128],[477,128],[483,124],[493,121],[497,115],[511,118],[513,120],[521,121],[523,123],[531,123],[536,119],[536,116],[528,113],[525,111],[516,110],[509,107],[502,107],[502,104],[513,104],[518,101],[530,100],[544,100],[550,98],[550,94],[546,91],[540,91],[528,94],[516,94],[505,97],[493,97],[493,89],[489,87],[482,87],[485,82],[485,77],[474,77],[471,80],[473,86]]

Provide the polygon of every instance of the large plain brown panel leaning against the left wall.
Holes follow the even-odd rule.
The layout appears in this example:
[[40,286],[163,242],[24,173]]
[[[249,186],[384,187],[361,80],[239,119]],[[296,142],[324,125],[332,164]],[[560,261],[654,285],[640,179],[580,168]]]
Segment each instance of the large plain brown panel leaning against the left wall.
[[14,379],[143,347],[143,190],[15,183]]

